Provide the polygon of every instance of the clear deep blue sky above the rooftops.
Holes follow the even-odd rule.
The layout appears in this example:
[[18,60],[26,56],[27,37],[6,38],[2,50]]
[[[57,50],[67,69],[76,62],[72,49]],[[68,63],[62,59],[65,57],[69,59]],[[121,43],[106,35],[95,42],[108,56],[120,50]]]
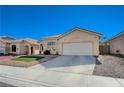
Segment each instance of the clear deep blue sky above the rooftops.
[[0,35],[41,39],[74,27],[111,38],[124,30],[124,6],[0,6]]

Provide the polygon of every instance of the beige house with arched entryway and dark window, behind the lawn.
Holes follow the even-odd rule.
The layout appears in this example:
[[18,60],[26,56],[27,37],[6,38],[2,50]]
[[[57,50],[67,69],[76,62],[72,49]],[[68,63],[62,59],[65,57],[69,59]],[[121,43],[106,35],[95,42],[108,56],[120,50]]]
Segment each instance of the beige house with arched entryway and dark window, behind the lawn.
[[10,54],[39,54],[40,45],[33,39],[13,40],[10,44]]

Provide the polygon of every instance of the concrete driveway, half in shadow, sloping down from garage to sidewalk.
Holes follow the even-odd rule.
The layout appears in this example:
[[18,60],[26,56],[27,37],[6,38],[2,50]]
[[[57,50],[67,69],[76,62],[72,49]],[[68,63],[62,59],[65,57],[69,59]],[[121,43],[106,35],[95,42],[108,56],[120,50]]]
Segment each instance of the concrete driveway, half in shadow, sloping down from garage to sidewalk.
[[59,56],[53,60],[38,64],[31,68],[45,69],[66,73],[92,74],[96,63],[93,56]]

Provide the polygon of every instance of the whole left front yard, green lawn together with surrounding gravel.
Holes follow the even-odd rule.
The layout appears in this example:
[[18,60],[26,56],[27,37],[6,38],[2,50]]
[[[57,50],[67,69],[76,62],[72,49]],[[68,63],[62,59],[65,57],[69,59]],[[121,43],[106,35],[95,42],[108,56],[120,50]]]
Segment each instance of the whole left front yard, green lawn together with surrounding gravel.
[[[1,57],[0,65],[16,66],[16,67],[30,67],[37,65],[53,58],[57,55],[37,55],[37,56],[10,56],[7,60],[6,57]],[[5,58],[5,59],[3,59]]]

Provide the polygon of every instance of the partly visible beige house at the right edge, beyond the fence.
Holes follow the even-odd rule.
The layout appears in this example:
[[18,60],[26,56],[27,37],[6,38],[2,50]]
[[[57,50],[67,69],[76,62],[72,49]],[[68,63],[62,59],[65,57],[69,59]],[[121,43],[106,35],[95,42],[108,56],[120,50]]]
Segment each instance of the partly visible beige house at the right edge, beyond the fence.
[[124,55],[124,31],[109,40],[111,54]]

